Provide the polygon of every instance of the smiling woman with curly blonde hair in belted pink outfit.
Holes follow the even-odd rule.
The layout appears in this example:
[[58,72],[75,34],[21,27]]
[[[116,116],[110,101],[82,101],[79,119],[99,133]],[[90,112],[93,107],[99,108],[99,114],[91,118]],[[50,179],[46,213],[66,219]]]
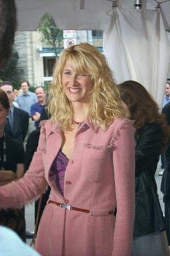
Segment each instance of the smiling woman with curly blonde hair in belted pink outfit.
[[44,176],[51,191],[35,244],[41,255],[130,256],[133,124],[124,118],[112,72],[96,47],[64,49],[48,112],[29,171],[0,187],[0,207],[35,199]]

